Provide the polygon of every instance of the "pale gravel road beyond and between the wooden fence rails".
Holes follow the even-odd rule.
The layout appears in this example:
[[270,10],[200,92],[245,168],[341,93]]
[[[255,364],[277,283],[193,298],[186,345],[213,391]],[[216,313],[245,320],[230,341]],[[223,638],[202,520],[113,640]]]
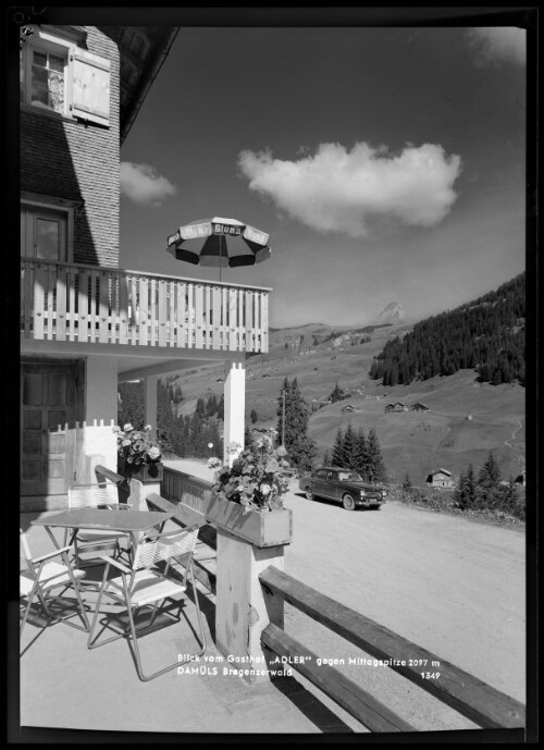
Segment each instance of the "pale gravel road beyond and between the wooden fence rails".
[[[285,505],[286,573],[524,703],[523,531],[397,502],[350,513],[298,490]],[[345,659],[338,668],[416,728],[474,726],[387,667],[348,666],[366,654],[290,606],[285,629],[318,656]]]

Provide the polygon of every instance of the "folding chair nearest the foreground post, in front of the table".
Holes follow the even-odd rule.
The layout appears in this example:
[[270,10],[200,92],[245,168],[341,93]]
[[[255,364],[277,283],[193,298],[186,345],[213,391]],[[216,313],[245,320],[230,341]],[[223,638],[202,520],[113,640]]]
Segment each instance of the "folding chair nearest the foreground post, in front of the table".
[[[89,637],[87,639],[87,646],[89,649],[96,649],[100,646],[104,646],[106,643],[110,643],[111,641],[119,640],[120,638],[132,638],[132,644],[136,656],[136,669],[138,672],[138,677],[143,681],[154,679],[156,677],[159,677],[159,675],[163,675],[165,672],[174,669],[176,666],[185,664],[186,662],[197,659],[203,654],[206,650],[206,638],[202,627],[200,607],[198,604],[198,591],[195,586],[195,577],[193,573],[193,555],[195,553],[197,538],[198,526],[144,537],[136,546],[134,563],[131,567],[126,567],[119,561],[112,560],[106,555],[102,556],[107,565],[103,574],[102,585],[100,587],[100,593],[97,600],[92,625],[90,626]],[[184,556],[183,563],[178,560],[178,557],[182,555]],[[185,568],[183,576],[176,574],[177,579],[172,578],[172,573],[170,571],[172,561],[177,562]],[[162,571],[157,569],[157,563],[165,564]],[[154,569],[151,569],[153,566]],[[115,568],[121,575],[108,580],[110,567]],[[162,669],[153,672],[150,675],[146,675],[141,666],[141,659],[138,648],[138,635],[143,636],[145,632],[150,631],[157,614],[160,611],[160,602],[164,604],[164,602],[169,599],[172,600],[174,597],[185,594],[187,589],[187,577],[190,577],[190,585],[193,587],[193,593],[195,597],[201,649],[198,653],[193,654],[184,662],[176,661]],[[182,578],[182,580],[180,580],[180,578]],[[97,638],[94,638],[95,627],[98,620],[100,604],[104,593],[108,597],[112,597],[113,599],[121,601],[126,606],[129,625],[128,627],[125,627],[124,631],[120,635],[112,636],[111,638],[107,638],[100,643],[97,643]],[[139,632],[137,632],[137,628],[134,623],[133,610],[137,611],[139,607],[147,606],[151,607],[151,617],[148,623],[144,624],[141,627],[138,626]],[[119,618],[118,614],[111,616],[113,618]]]

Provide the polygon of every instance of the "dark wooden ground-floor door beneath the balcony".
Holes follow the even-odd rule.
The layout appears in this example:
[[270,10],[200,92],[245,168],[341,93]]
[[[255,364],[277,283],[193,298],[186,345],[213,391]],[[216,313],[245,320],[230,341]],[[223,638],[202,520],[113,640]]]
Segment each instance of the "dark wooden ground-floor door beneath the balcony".
[[21,495],[65,494],[75,480],[75,364],[23,362],[21,378]]

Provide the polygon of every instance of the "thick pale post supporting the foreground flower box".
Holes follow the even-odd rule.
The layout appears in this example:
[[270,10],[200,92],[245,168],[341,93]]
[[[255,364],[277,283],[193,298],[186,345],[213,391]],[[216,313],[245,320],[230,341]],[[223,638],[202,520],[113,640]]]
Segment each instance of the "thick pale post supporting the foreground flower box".
[[284,569],[284,546],[257,548],[218,528],[217,552],[215,642],[232,662],[224,666],[247,669],[249,684],[268,681],[261,632],[271,622],[283,628],[284,603],[263,591],[259,575],[269,565]]

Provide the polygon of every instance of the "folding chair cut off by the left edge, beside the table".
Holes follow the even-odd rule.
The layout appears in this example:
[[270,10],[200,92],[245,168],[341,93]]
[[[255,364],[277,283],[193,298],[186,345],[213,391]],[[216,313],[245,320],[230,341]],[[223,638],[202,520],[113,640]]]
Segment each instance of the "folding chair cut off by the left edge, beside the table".
[[[87,619],[85,605],[83,603],[77,583],[77,580],[83,578],[85,573],[83,570],[73,569],[70,565],[67,558],[67,551],[70,549],[70,546],[63,546],[60,550],[53,550],[53,552],[48,552],[39,557],[33,557],[26,536],[24,531],[20,529],[20,592],[21,598],[26,597],[28,600],[25,607],[23,622],[21,623],[20,635],[23,634],[23,629],[28,618],[28,613],[30,612],[32,604],[36,598],[39,599],[41,606],[44,607],[48,625],[51,625],[54,620],[66,619],[66,617],[53,615],[47,603],[47,599],[51,597],[52,590],[58,587],[62,587],[63,589],[73,587],[77,599],[79,614],[85,623],[85,631],[89,631],[89,622]],[[62,558],[62,563],[52,562],[54,557],[59,556]],[[59,598],[60,595],[55,597],[54,599]],[[67,624],[77,628],[76,625],[71,623]]]

